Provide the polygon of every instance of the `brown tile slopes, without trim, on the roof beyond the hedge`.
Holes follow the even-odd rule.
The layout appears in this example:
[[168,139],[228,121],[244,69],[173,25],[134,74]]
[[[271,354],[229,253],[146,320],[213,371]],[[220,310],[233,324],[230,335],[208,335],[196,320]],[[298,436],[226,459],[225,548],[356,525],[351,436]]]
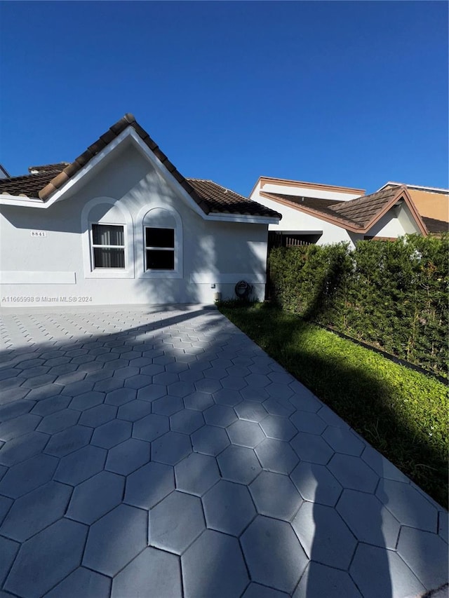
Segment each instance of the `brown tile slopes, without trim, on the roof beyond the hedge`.
[[302,201],[297,196],[287,196],[279,193],[263,193],[263,195],[315,214],[317,217],[330,219],[338,226],[363,232],[388,209],[390,204],[394,203],[396,198],[400,198],[403,192],[406,193],[405,187],[388,188],[349,201],[330,201],[314,198],[304,198],[304,201]]

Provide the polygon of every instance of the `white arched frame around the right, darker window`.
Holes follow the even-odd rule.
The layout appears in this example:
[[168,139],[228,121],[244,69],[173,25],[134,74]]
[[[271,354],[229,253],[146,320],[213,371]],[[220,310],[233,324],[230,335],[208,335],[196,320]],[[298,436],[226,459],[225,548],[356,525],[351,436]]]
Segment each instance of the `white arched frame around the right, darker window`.
[[[174,269],[173,270],[159,270],[150,269],[147,270],[147,237],[146,229],[172,229],[172,226],[152,226],[152,211],[153,210],[164,210],[168,212],[170,216],[175,220],[175,247],[168,247],[170,250],[174,250]],[[138,278],[182,278],[183,276],[183,241],[182,241],[182,220],[180,215],[174,208],[168,205],[154,205],[151,210],[147,207],[142,208],[137,216],[137,221],[140,222],[140,231],[136,236],[136,266],[138,272]],[[151,249],[152,247],[148,247]],[[161,247],[154,247],[154,249],[161,249]]]

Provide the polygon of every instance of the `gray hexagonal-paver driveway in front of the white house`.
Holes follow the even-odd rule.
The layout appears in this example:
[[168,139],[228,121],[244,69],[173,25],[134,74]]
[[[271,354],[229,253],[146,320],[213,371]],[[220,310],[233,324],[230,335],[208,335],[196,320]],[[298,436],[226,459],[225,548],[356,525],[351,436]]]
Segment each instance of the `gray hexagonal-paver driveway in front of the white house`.
[[447,581],[448,513],[214,309],[3,311],[1,336],[1,597]]

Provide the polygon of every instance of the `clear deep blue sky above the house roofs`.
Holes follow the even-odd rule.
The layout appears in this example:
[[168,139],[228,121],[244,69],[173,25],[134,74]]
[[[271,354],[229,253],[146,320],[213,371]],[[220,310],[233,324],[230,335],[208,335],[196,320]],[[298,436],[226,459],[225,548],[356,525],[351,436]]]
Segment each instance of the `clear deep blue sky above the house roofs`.
[[0,163],[132,112],[186,177],[448,185],[446,2],[2,2]]

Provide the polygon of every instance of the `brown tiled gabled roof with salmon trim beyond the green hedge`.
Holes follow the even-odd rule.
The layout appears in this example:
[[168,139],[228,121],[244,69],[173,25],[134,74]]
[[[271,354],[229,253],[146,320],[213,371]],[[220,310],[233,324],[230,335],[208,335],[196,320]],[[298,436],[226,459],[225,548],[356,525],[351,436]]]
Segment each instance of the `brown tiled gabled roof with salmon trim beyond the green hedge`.
[[422,222],[422,218],[417,212],[406,187],[389,187],[383,191],[376,191],[376,193],[349,201],[332,202],[322,199],[306,200],[305,198],[302,201],[297,196],[287,196],[279,193],[261,192],[260,195],[354,233],[368,232],[390,208],[402,200],[408,205],[422,234],[427,235],[426,226]]

